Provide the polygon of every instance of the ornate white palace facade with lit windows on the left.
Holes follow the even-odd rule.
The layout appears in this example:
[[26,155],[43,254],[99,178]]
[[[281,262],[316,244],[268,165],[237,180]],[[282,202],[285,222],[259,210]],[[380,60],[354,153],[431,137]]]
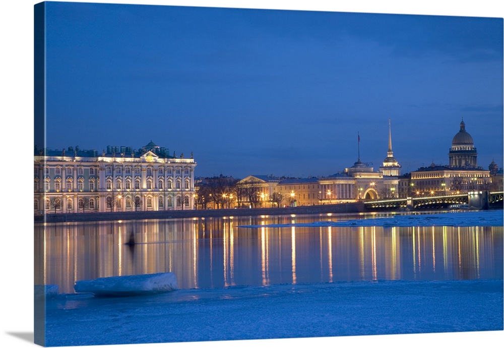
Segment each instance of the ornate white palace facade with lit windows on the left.
[[139,150],[37,150],[34,211],[42,213],[149,211],[194,208],[191,154],[169,155],[152,141]]

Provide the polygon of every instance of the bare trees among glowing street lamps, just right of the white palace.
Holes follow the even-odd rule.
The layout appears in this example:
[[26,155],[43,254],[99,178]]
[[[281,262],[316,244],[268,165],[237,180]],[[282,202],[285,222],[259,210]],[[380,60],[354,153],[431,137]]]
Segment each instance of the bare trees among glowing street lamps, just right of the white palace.
[[258,208],[264,204],[280,207],[284,197],[278,192],[264,195],[263,187],[259,180],[239,183],[238,179],[222,175],[201,179],[195,184],[195,206],[197,209]]

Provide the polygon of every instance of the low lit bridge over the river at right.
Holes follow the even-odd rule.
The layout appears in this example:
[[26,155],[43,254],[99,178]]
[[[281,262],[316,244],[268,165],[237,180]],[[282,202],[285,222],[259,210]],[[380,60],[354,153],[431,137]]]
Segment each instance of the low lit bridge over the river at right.
[[367,211],[396,209],[495,209],[503,207],[504,192],[475,191],[460,195],[376,199],[364,201]]

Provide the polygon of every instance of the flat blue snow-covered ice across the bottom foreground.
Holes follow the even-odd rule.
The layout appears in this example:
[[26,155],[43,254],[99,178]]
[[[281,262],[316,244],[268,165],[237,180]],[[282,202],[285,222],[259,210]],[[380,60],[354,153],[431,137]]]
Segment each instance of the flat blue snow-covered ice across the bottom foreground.
[[51,346],[486,331],[502,308],[501,279],[243,286],[61,296],[46,330]]

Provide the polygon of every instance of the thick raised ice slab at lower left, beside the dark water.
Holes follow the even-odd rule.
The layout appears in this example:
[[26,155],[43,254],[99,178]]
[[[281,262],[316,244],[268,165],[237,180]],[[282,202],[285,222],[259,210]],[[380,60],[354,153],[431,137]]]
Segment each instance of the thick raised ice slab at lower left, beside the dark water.
[[94,296],[151,295],[177,288],[177,278],[172,272],[78,280],[74,285],[77,293],[92,293]]

